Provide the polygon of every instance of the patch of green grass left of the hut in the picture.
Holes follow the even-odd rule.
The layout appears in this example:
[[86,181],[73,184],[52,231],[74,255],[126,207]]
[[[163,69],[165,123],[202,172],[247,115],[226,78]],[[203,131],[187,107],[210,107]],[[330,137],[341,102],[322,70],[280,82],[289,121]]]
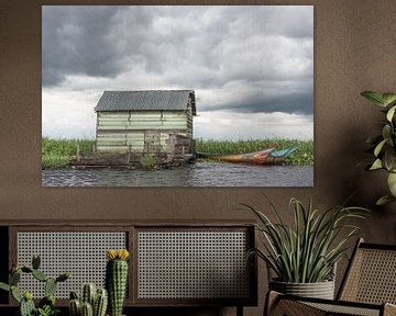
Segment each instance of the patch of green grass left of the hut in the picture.
[[92,153],[95,140],[91,139],[53,139],[42,138],[42,168],[67,167],[77,155],[77,146],[80,155]]

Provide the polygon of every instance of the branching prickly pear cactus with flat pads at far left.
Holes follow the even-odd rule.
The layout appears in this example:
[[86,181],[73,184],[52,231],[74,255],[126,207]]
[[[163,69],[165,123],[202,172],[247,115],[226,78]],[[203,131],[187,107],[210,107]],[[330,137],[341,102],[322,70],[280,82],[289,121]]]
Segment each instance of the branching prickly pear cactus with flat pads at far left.
[[[40,256],[33,256],[32,267],[13,266],[9,276],[9,284],[0,282],[0,289],[11,292],[12,297],[20,304],[21,316],[54,316],[59,313],[55,307],[55,291],[59,282],[70,278],[69,273],[63,273],[57,278],[50,278],[40,270]],[[21,292],[18,284],[22,273],[29,273],[36,280],[44,283],[45,296],[38,302],[37,307],[33,301],[33,294],[29,291]]]

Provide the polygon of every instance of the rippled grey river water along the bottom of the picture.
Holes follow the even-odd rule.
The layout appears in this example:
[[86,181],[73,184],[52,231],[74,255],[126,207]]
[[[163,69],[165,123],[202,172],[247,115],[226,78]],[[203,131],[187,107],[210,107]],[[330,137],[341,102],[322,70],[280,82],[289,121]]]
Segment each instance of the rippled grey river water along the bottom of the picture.
[[47,169],[43,187],[312,187],[314,167],[196,162],[146,171]]

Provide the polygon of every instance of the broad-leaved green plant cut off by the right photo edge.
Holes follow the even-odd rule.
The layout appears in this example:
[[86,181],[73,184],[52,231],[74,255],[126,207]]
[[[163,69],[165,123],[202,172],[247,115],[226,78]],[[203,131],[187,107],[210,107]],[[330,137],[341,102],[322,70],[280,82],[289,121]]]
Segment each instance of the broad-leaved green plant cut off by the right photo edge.
[[396,93],[378,93],[364,91],[361,93],[372,103],[381,106],[385,120],[381,123],[381,134],[367,139],[374,160],[369,170],[386,170],[389,193],[382,196],[376,204],[384,205],[396,201]]

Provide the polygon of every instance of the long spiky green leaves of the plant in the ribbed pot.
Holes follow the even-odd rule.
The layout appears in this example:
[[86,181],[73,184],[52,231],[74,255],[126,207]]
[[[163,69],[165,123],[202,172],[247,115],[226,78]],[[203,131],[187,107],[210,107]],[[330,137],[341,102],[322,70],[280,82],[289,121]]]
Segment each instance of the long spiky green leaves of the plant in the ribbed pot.
[[356,234],[359,227],[351,225],[352,218],[364,218],[367,210],[362,207],[334,206],[319,212],[293,198],[293,226],[280,217],[274,204],[265,196],[270,212],[276,221],[271,221],[263,212],[248,204],[258,218],[256,225],[264,236],[264,249],[252,249],[249,257],[264,260],[277,276],[277,281],[293,283],[317,283],[331,280],[337,262],[345,256],[346,241]]

